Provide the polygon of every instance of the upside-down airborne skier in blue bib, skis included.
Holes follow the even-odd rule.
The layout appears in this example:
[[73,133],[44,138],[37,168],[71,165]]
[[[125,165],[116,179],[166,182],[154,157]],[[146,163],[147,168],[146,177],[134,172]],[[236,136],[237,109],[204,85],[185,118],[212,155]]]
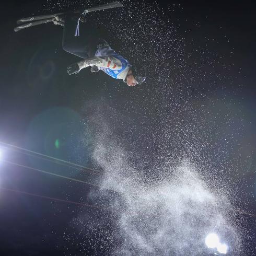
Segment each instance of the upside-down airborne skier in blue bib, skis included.
[[[122,4],[114,2],[104,6],[99,6],[83,11],[76,11],[75,13],[61,13],[48,16],[36,16],[18,20],[27,22],[32,20],[38,24],[53,22],[55,25],[64,26],[63,31],[63,50],[72,53],[78,57],[83,58],[82,61],[69,65],[67,73],[69,75],[77,74],[81,69],[90,67],[91,72],[98,72],[102,70],[104,73],[115,79],[122,79],[129,86],[142,84],[145,80],[145,75],[139,74],[136,68],[124,59],[121,55],[110,48],[109,44],[96,36],[92,36],[89,31],[84,31],[80,36],[79,24],[84,22],[84,15],[89,11],[99,10],[104,8],[120,7]],[[36,22],[24,24],[17,27],[15,31],[22,28],[38,25]]]

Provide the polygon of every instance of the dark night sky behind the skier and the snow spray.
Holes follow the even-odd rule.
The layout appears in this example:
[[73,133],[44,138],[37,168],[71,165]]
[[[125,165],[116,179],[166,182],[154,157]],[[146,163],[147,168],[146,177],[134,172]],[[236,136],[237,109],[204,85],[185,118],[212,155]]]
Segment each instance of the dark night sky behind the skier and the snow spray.
[[[83,5],[79,1],[63,3],[60,6],[54,1],[51,4],[46,1],[2,3],[1,141],[94,168],[90,152],[95,136],[102,132],[102,120],[106,119],[135,161],[139,162],[141,155],[147,159],[145,169],[159,164],[159,156],[168,151],[172,152],[171,159],[185,155],[195,161],[200,159],[203,165],[208,163],[203,160],[207,156],[216,176],[224,175],[231,180],[229,185],[237,188],[234,197],[242,205],[240,209],[255,214],[256,8],[253,1],[158,2],[156,15],[160,16],[160,9],[165,9],[168,14],[162,20],[167,27],[177,30],[173,37],[178,35],[179,43],[166,41],[170,43],[167,47],[162,36],[159,38],[162,44],[159,49],[155,47],[156,50],[156,35],[161,31],[152,30],[153,43],[143,41],[136,37],[136,23],[121,17],[129,13],[129,8],[134,15],[130,2],[124,3],[122,13],[113,12],[112,18],[119,19],[122,32],[116,34],[110,30],[108,17],[102,17],[104,26],[99,25],[98,31],[113,49],[127,59],[131,56],[134,62],[144,56],[148,78],[145,84],[134,88],[103,73],[90,74],[89,70],[68,76],[66,66],[77,61],[77,57],[62,50],[59,26],[41,25],[13,32],[16,20],[21,17],[67,10],[68,4],[73,9]],[[156,5],[149,1],[147,4]],[[139,8],[139,4],[137,6]],[[95,17],[101,19],[98,14]],[[95,23],[94,19],[88,20],[92,26],[96,26]],[[131,38],[126,41],[125,36],[117,36],[129,32]],[[132,44],[133,39],[136,45]],[[171,43],[173,52],[161,48],[172,49]],[[180,48],[182,53],[180,45],[185,45]],[[166,75],[168,67],[171,67],[170,75]],[[192,76],[195,78],[191,79]],[[116,112],[118,114],[113,114]],[[171,123],[170,130],[167,123]],[[195,124],[200,129],[194,130]],[[50,134],[49,127],[53,131]],[[184,127],[190,132],[184,132]],[[80,141],[82,135],[83,142]],[[56,139],[61,142],[59,149],[54,145]],[[167,140],[168,145],[163,143]],[[184,145],[190,149],[184,149]],[[203,150],[197,150],[199,147]],[[2,157],[34,168],[54,169],[59,174],[71,173],[68,168],[34,160],[10,149],[2,150]],[[89,179],[83,173],[79,175]],[[77,202],[87,202],[90,190],[84,185],[21,170],[4,162],[0,184],[3,188]],[[78,246],[83,238],[74,235],[69,223],[80,213],[80,206],[7,191],[1,191],[0,204],[1,255],[109,253],[97,245],[89,249]],[[83,208],[83,211],[94,215],[97,210]],[[253,255],[256,252],[252,239],[255,216],[246,219],[245,245],[250,251],[248,255]],[[72,238],[67,235],[69,232]]]

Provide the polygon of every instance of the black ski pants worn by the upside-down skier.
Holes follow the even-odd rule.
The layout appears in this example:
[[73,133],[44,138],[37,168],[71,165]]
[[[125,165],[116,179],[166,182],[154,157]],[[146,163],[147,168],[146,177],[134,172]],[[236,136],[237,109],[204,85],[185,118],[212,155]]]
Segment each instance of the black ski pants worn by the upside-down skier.
[[108,45],[103,39],[96,36],[91,28],[86,28],[79,36],[79,16],[69,15],[65,18],[63,31],[63,50],[83,59],[95,56],[98,48]]

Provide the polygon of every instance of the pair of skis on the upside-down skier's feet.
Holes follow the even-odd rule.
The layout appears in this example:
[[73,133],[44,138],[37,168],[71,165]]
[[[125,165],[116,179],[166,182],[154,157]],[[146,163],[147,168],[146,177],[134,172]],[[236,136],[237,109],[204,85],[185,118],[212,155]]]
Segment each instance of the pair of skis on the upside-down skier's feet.
[[[90,13],[91,11],[111,9],[111,8],[117,8],[117,7],[122,7],[122,6],[123,5],[120,2],[113,2],[113,3],[109,3],[109,4],[104,4],[104,5],[92,7],[92,8],[89,8],[89,9],[80,9],[80,10],[76,10],[76,11],[70,11],[70,12],[67,12],[67,13],[81,13],[82,15],[85,15],[87,13]],[[31,16],[31,17],[19,19],[19,20],[17,20],[17,24],[19,26],[16,27],[14,29],[14,31],[17,32],[21,29],[25,29],[25,28],[37,26],[37,25],[40,25],[40,24],[46,24],[46,23],[49,23],[49,22],[53,22],[55,20],[56,16],[63,16],[67,13],[39,15],[39,16]]]

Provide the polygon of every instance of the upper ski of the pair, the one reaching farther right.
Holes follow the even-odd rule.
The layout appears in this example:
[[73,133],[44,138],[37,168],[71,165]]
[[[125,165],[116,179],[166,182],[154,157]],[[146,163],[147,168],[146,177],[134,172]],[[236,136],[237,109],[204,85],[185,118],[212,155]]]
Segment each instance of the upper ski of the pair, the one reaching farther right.
[[[56,16],[61,16],[61,15],[67,14],[67,13],[87,14],[87,13],[90,13],[91,11],[118,8],[118,7],[122,7],[122,6],[123,6],[123,4],[121,4],[120,2],[113,2],[113,3],[109,3],[109,4],[103,4],[103,5],[99,5],[99,6],[96,6],[96,7],[92,7],[92,8],[89,8],[89,9],[80,9],[80,10],[76,10],[76,11],[68,11],[68,12],[65,12],[65,13],[57,13],[57,14],[49,14],[49,15],[31,16],[31,17],[22,18],[22,19],[17,20],[17,24],[21,25],[21,24],[24,24],[26,22],[31,22],[31,21],[35,21],[35,20],[52,19]],[[33,26],[36,26],[36,25],[33,25]]]

